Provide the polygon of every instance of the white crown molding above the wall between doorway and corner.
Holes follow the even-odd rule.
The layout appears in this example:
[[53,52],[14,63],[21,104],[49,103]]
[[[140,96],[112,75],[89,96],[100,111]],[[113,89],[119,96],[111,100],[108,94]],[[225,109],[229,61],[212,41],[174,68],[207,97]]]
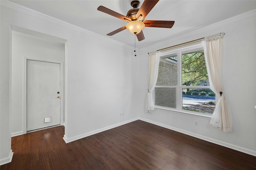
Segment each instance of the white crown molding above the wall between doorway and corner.
[[12,10],[15,10],[17,12],[21,12],[23,14],[27,14],[29,16],[33,16],[35,18],[38,18],[40,20],[44,20],[44,21],[48,21],[50,23],[54,23],[56,25],[60,25],[62,27],[65,27],[65,28],[68,28],[68,29],[72,29],[74,31],[77,31],[77,32],[80,32],[80,33],[84,33],[84,34],[87,34],[87,35],[91,35],[93,37],[96,37],[98,39],[102,39],[104,41],[107,41],[109,43],[113,43],[115,45],[118,45],[118,46],[121,46],[121,47],[125,47],[125,48],[128,48],[128,49],[134,49],[134,47],[130,46],[130,45],[127,45],[127,44],[124,44],[124,43],[121,43],[119,41],[115,41],[113,39],[110,39],[108,37],[104,37],[100,34],[97,34],[97,33],[94,33],[92,31],[89,31],[87,29],[84,29],[82,27],[78,27],[76,25],[73,25],[71,23],[68,23],[68,22],[65,22],[65,21],[62,21],[62,20],[59,20],[57,18],[54,18],[54,17],[51,17],[51,16],[48,16],[46,14],[43,14],[41,12],[38,12],[38,11],[35,11],[35,10],[32,10],[30,8],[27,8],[27,7],[24,7],[24,6],[21,6],[19,4],[16,4],[14,2],[11,2],[9,0],[0,0],[0,6],[4,6],[6,8],[10,8]]

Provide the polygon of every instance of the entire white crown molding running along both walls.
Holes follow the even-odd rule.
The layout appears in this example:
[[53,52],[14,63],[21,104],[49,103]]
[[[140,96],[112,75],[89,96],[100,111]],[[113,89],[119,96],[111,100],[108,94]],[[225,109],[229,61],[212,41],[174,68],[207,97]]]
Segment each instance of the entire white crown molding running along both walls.
[[[16,10],[18,12],[22,12],[24,14],[27,14],[27,15],[30,15],[30,16],[33,16],[35,18],[39,18],[41,20],[45,20],[45,21],[48,21],[48,22],[51,22],[51,23],[54,23],[56,25],[60,25],[62,27],[65,27],[65,28],[68,28],[68,29],[72,29],[74,31],[78,31],[80,33],[85,33],[87,35],[92,35],[93,37],[96,37],[98,39],[102,39],[104,41],[107,41],[107,42],[110,42],[110,43],[113,43],[115,45],[118,45],[118,46],[121,46],[121,47],[125,47],[127,49],[134,49],[134,47],[130,46],[130,45],[126,45],[124,43],[121,43],[119,41],[115,41],[113,39],[110,39],[108,37],[104,37],[100,34],[97,34],[97,33],[94,33],[92,31],[89,31],[87,29],[84,29],[82,27],[78,27],[76,25],[73,25],[71,23],[68,23],[68,22],[65,22],[65,21],[62,21],[62,20],[59,20],[59,19],[56,19],[54,17],[51,17],[51,16],[48,16],[46,14],[42,14],[38,11],[35,11],[35,10],[32,10],[30,8],[27,8],[27,7],[24,7],[24,6],[21,6],[19,4],[16,4],[14,2],[11,2],[9,0],[0,0],[0,5],[1,6],[4,6],[6,8],[10,8],[12,10]],[[179,39],[183,39],[183,38],[186,38],[186,37],[189,37],[191,35],[194,35],[194,34],[197,34],[197,33],[200,33],[204,30],[208,30],[208,29],[214,29],[214,28],[218,28],[218,27],[221,27],[223,25],[227,25],[227,24],[230,24],[230,23],[234,23],[236,21],[240,21],[240,20],[244,20],[246,18],[250,18],[250,17],[253,17],[253,16],[256,16],[256,9],[254,10],[251,10],[251,11],[248,11],[248,12],[245,12],[243,14],[240,14],[240,15],[237,15],[237,16],[234,16],[232,18],[228,18],[226,20],[223,20],[223,21],[220,21],[220,22],[217,22],[217,23],[214,23],[214,24],[211,24],[211,25],[204,25],[202,27],[197,27],[197,28],[194,28],[194,29],[190,29],[188,31],[184,31],[182,33],[179,33],[179,34],[176,34],[176,35],[173,35],[173,36],[170,36],[170,37],[166,37],[165,39],[162,39],[161,41],[158,41],[156,43],[154,43],[154,45],[149,45],[149,46],[144,46],[144,47],[141,47],[140,49],[143,49],[145,47],[152,47],[153,49],[155,47],[157,47],[158,45],[162,44],[163,41],[167,42],[168,41],[176,41],[176,40],[179,40]]]

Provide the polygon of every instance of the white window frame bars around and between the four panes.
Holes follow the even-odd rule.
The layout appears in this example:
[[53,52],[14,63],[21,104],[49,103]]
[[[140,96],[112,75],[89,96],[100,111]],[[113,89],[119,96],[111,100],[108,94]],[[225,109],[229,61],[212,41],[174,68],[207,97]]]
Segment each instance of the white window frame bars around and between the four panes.
[[[156,109],[164,110],[164,111],[172,111],[174,113],[181,113],[185,115],[195,115],[199,117],[204,117],[209,119],[212,117],[212,114],[207,113],[200,113],[196,111],[188,111],[182,109],[182,89],[183,88],[191,88],[191,89],[210,89],[210,86],[183,86],[182,85],[182,53],[184,52],[194,52],[197,51],[196,49],[203,49],[203,45],[201,42],[194,43],[192,45],[185,45],[183,47],[177,47],[174,49],[169,49],[166,51],[161,51],[160,53],[160,60],[164,58],[168,58],[166,56],[172,56],[174,54],[177,54],[177,85],[176,86],[155,86],[155,88],[176,88],[176,108],[172,107],[164,107],[164,106],[157,106],[154,105]],[[200,51],[198,50],[198,51]],[[153,90],[153,98],[154,98],[154,104],[156,103],[156,95],[155,95],[155,89]],[[217,95],[215,96],[215,101],[217,101]]]

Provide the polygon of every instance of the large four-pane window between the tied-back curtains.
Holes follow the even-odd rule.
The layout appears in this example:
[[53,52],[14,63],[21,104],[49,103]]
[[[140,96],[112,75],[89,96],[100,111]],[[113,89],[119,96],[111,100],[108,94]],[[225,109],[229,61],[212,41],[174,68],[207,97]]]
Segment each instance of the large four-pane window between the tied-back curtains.
[[209,85],[201,43],[161,53],[154,90],[156,106],[212,114],[215,94]]

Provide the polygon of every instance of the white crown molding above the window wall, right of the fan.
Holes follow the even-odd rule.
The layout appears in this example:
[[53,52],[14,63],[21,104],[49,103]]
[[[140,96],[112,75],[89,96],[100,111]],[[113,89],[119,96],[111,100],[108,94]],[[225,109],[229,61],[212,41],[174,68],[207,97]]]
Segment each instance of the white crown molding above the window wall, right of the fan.
[[162,45],[163,41],[166,42],[166,43],[177,41],[177,40],[180,40],[180,39],[183,39],[183,38],[186,38],[186,37],[190,37],[191,35],[201,33],[205,30],[215,29],[215,28],[218,28],[218,27],[221,27],[221,26],[224,26],[224,25],[228,25],[228,24],[234,23],[236,21],[244,20],[246,18],[250,18],[250,17],[253,17],[253,16],[256,16],[256,9],[245,12],[245,13],[237,15],[237,16],[234,16],[232,18],[228,18],[226,20],[222,20],[222,21],[210,24],[210,25],[204,25],[202,27],[197,27],[197,28],[194,28],[194,29],[190,29],[188,31],[184,31],[182,33],[173,35],[171,37],[167,37],[165,39],[162,39],[161,41],[158,41],[158,42],[154,43],[154,45],[145,46],[145,47],[141,47],[141,48],[155,49],[155,47],[158,47],[158,46]]

